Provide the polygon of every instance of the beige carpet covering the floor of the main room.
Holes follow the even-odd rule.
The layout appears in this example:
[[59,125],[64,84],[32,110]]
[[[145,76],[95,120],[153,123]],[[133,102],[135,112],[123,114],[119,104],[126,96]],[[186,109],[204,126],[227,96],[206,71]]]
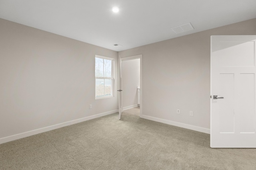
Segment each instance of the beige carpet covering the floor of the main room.
[[256,170],[256,149],[126,110],[0,145],[0,170]]

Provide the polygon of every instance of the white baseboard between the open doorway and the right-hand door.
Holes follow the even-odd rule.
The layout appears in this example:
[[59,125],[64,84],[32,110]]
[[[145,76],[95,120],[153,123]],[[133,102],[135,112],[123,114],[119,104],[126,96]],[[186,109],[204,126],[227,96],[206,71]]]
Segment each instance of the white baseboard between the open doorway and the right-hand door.
[[193,131],[198,131],[198,132],[210,134],[210,129],[206,129],[204,127],[188,125],[188,124],[185,124],[185,123],[179,123],[179,122],[176,122],[176,121],[160,119],[160,118],[157,118],[157,117],[151,117],[151,116],[147,116],[147,115],[142,115],[142,118],[152,120],[152,121],[157,121],[157,122],[160,122],[160,123],[165,123],[165,124],[168,124],[168,125],[173,125],[173,126],[178,126],[178,127],[190,129],[190,130],[193,130]]

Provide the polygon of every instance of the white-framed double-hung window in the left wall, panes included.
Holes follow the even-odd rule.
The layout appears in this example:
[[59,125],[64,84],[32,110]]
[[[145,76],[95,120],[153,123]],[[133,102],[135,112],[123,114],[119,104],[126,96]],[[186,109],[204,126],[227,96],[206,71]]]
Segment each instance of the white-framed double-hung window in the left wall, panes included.
[[113,95],[114,59],[95,56],[95,98],[108,98]]

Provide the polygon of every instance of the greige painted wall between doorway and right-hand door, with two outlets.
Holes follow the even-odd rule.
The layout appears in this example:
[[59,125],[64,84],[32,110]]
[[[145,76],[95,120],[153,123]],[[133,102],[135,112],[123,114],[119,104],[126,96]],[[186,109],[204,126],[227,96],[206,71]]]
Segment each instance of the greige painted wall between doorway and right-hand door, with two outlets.
[[256,19],[118,52],[143,56],[143,115],[210,129],[211,35],[256,35]]

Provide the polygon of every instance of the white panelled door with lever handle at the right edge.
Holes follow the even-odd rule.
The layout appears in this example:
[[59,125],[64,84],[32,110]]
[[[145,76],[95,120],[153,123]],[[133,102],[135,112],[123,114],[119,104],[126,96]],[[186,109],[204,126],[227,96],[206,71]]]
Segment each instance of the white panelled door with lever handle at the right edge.
[[256,35],[211,36],[212,148],[256,148],[255,42]]

